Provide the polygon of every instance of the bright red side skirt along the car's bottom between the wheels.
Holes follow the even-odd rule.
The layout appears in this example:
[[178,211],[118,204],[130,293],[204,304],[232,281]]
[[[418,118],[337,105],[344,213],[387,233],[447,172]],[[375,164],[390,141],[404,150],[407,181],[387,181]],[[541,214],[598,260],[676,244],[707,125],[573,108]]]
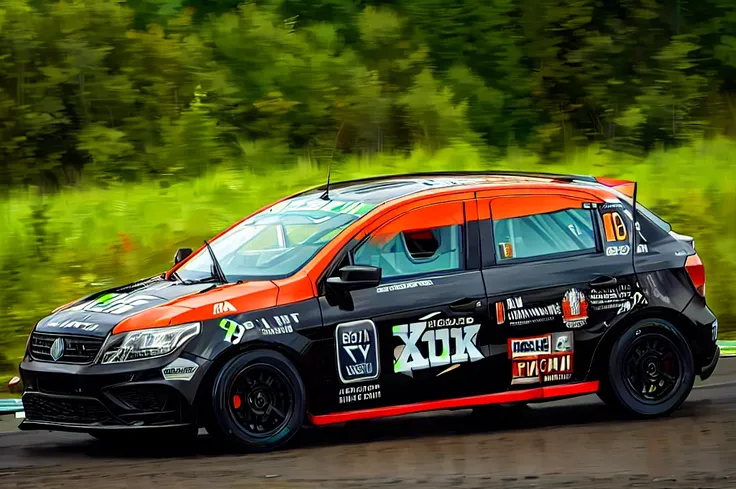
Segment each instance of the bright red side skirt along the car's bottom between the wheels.
[[386,406],[374,409],[361,409],[358,411],[346,411],[342,413],[323,414],[319,416],[309,415],[309,420],[316,426],[328,424],[345,423],[359,419],[386,418],[389,416],[400,416],[402,414],[421,413],[424,411],[437,411],[442,409],[469,408],[488,404],[507,404],[524,401],[540,401],[559,397],[581,396],[598,392],[598,381],[579,382],[575,384],[552,385],[548,387],[536,387],[518,391],[498,392],[495,394],[484,394],[482,396],[460,397],[458,399],[443,399],[440,401],[418,402],[415,404],[402,404],[398,406]]

